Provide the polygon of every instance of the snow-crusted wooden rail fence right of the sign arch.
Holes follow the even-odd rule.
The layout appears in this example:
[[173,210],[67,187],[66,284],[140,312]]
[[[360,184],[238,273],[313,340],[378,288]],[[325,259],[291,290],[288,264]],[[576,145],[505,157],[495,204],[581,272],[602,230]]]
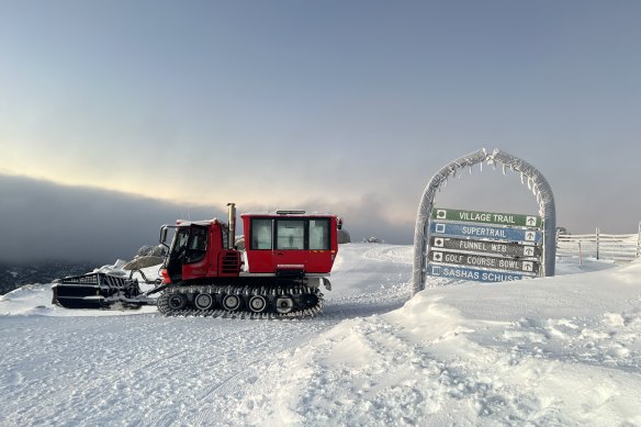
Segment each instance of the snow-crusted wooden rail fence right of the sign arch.
[[596,258],[627,263],[641,255],[641,223],[636,234],[595,234],[556,236],[558,257]]

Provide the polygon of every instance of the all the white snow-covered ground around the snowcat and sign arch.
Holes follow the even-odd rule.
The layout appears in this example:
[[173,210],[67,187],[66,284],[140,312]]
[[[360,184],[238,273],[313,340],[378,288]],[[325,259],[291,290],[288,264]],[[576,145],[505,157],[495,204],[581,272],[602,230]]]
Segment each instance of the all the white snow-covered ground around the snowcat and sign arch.
[[344,245],[305,321],[68,311],[24,286],[0,299],[0,425],[641,426],[641,262],[556,269],[411,299],[409,246]]

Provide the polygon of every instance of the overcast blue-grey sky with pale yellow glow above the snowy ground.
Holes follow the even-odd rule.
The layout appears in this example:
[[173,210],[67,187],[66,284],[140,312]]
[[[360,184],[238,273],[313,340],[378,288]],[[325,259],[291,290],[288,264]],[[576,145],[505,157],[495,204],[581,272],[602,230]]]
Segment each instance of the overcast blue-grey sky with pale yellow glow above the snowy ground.
[[[135,251],[230,201],[409,244],[429,178],[482,147],[546,176],[559,225],[633,233],[639,22],[636,0],[0,0],[0,259],[56,255],[42,226],[67,218],[95,233],[69,251]],[[437,203],[537,211],[488,168]]]

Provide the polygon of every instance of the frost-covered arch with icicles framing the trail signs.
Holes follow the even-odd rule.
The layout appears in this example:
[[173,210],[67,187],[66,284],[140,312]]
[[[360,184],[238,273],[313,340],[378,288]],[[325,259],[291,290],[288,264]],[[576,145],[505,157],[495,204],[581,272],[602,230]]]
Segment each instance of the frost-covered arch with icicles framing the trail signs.
[[431,179],[423,192],[416,226],[414,229],[414,269],[412,274],[413,293],[416,294],[425,288],[425,268],[427,261],[427,244],[429,240],[429,217],[434,207],[434,199],[441,184],[451,176],[454,177],[464,168],[472,168],[483,162],[496,166],[501,164],[504,172],[506,169],[521,173],[521,180],[527,178],[528,188],[537,198],[539,215],[543,218],[543,276],[554,276],[556,255],[556,210],[554,195],[548,180],[533,166],[521,158],[513,156],[499,149],[487,151],[481,148],[443,166]]

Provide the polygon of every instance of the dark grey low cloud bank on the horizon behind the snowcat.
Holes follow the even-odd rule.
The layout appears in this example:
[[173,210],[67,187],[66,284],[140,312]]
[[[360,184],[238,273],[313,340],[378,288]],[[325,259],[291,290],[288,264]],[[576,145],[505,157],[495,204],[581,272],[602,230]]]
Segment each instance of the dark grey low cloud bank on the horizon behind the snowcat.
[[[111,263],[133,258],[143,245],[158,241],[162,224],[177,218],[225,218],[226,206],[179,205],[87,187],[59,186],[0,175],[0,260],[90,261]],[[384,218],[384,201],[364,196],[355,204],[308,202],[308,212],[336,212],[355,240],[376,236],[389,243],[411,243],[413,224]],[[239,213],[272,206],[238,206]]]

